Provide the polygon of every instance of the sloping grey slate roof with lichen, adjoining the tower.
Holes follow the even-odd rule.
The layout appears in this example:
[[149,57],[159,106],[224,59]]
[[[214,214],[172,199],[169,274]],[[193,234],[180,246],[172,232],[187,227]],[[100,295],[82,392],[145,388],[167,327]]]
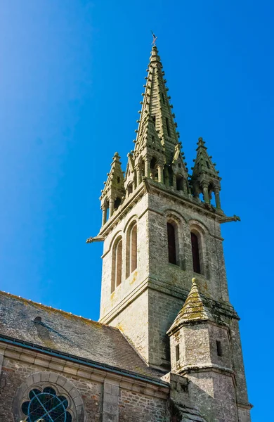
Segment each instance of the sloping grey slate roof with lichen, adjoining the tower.
[[[36,317],[41,322],[35,322]],[[7,336],[100,364],[159,378],[114,327],[0,292],[0,340]],[[161,381],[161,383],[163,383]]]

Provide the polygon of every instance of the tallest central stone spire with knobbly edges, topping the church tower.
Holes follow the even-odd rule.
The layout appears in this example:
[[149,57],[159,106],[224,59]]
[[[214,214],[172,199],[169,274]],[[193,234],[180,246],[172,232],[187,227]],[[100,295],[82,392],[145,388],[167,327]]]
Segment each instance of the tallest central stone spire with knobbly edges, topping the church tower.
[[137,174],[136,186],[143,175],[169,187],[176,188],[177,184],[181,186],[178,190],[188,195],[188,169],[183,161],[175,115],[169,102],[171,97],[167,94],[167,81],[156,46],[152,47],[147,72],[136,145],[131,155]]

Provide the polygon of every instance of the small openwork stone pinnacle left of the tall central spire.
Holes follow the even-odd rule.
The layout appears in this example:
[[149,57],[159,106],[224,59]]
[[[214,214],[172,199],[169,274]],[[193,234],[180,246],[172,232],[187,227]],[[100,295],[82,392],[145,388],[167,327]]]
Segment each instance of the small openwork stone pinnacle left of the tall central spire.
[[110,173],[107,173],[107,181],[104,182],[101,200],[101,209],[103,211],[102,226],[107,221],[107,211],[109,217],[117,210],[124,197],[124,173],[122,172],[120,157],[115,153],[112,158]]

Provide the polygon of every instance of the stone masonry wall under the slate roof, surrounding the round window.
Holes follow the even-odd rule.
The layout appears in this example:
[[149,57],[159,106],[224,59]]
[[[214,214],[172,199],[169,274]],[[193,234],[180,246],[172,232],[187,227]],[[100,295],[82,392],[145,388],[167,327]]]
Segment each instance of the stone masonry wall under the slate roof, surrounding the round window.
[[[20,354],[23,360],[7,357],[15,353],[18,354],[18,351],[5,350],[0,375],[1,422],[19,422],[25,418],[20,410],[22,399],[18,397],[22,385],[28,392],[36,385],[51,385],[53,388],[56,385],[58,391],[58,385],[62,384],[64,389],[70,385],[75,406],[79,402],[84,403],[84,416],[75,419],[77,422],[169,422],[165,419],[168,388],[163,391],[156,387],[153,389],[150,384],[138,384],[138,381],[130,379],[123,381],[121,376],[107,375],[96,369],[85,371],[85,367],[79,364],[66,364],[63,359],[44,357],[36,352]],[[33,364],[34,360],[38,364]],[[58,381],[58,377],[63,383]],[[39,380],[49,381],[38,383]],[[18,402],[19,413],[14,419],[15,402]]]

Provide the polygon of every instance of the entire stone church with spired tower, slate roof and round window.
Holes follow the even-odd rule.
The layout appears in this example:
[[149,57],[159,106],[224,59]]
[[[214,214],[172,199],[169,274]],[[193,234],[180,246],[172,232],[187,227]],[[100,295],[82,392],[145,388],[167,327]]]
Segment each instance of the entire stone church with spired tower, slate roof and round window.
[[221,178],[191,175],[153,46],[134,151],[101,193],[99,322],[0,293],[0,422],[250,422]]

